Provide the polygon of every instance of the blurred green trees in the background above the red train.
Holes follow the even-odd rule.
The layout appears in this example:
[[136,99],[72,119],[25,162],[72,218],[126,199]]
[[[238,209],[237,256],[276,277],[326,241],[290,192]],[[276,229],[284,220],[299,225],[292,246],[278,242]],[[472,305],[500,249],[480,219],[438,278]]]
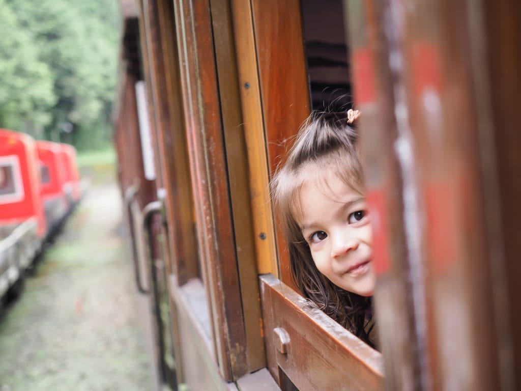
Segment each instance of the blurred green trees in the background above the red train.
[[[4,27],[6,22],[12,26],[5,29],[9,39],[21,43],[0,43],[2,63],[12,59],[30,72],[11,65],[0,73],[13,79],[18,69],[14,80],[23,79],[30,88],[21,81],[0,82],[8,85],[9,95],[2,111],[0,93],[0,126],[65,139],[80,150],[107,144],[117,78],[117,0],[0,0],[0,23]],[[3,46],[11,52],[4,55]],[[72,135],[63,132],[67,127]]]

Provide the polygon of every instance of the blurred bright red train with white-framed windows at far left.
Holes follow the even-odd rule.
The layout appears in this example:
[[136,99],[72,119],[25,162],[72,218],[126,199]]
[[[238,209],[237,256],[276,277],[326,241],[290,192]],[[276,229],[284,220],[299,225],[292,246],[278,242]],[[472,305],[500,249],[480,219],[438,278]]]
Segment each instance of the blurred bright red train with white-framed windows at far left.
[[0,306],[81,196],[76,150],[0,129]]

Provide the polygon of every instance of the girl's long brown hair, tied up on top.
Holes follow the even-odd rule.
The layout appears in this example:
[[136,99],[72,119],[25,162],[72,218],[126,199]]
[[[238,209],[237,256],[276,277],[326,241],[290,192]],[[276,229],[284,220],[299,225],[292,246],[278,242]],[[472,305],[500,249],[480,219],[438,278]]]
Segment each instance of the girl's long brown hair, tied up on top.
[[320,273],[297,222],[307,169],[332,169],[353,190],[363,193],[358,136],[347,113],[314,112],[302,125],[287,161],[271,181],[277,217],[286,235],[291,276],[303,295],[358,338],[374,347],[366,330],[371,298],[346,291]]

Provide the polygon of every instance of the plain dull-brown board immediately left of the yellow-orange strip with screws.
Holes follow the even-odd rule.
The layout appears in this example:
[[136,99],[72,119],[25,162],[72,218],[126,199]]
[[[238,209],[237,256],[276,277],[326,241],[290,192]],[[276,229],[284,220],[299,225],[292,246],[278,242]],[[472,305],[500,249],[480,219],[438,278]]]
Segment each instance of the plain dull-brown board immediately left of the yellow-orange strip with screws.
[[[238,268],[240,294],[242,302],[242,324],[234,330],[229,325],[230,337],[234,340],[231,360],[240,362],[235,373],[237,377],[264,368],[264,339],[261,325],[261,305],[259,303],[257,268],[255,262],[255,240],[253,233],[252,204],[250,200],[248,161],[244,135],[244,120],[241,111],[240,86],[237,77],[237,60],[241,53],[235,52],[234,35],[229,2],[211,0],[212,25],[214,32],[219,98],[221,105],[222,127],[226,148],[228,180],[235,234],[237,265],[225,263],[223,284],[228,284],[227,275]],[[233,334],[232,334],[233,333]]]

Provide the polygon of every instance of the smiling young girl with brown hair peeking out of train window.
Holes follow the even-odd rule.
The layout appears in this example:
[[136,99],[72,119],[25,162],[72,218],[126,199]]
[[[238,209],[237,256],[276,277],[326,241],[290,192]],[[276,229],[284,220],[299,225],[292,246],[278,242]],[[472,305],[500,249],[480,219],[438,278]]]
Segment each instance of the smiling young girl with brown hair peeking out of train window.
[[364,198],[357,112],[313,113],[272,181],[290,270],[305,297],[375,347],[371,228]]

